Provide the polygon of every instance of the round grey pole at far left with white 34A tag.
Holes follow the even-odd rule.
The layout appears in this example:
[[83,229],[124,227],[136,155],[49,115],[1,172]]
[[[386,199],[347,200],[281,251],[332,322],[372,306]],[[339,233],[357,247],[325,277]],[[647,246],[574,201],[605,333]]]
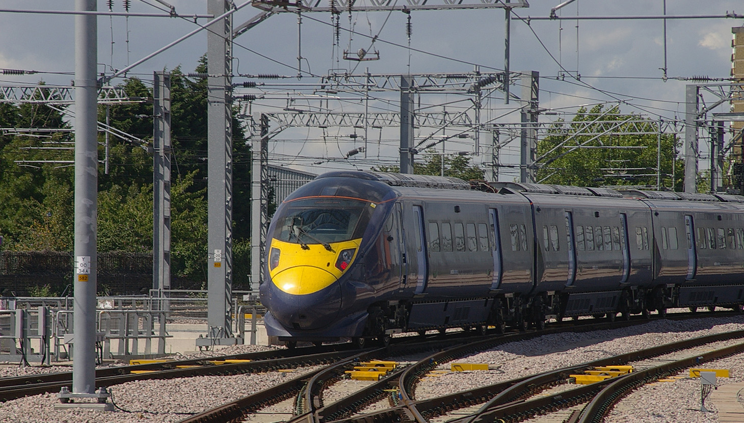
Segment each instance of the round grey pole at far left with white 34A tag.
[[[95,11],[95,0],[75,0],[75,10]],[[75,270],[72,392],[95,390],[96,229],[98,201],[97,22],[75,16]]]

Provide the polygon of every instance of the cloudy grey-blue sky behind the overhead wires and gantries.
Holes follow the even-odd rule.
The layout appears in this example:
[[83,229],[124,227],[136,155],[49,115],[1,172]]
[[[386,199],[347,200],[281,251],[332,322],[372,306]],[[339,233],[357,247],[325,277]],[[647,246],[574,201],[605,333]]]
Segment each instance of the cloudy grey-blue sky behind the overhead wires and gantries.
[[[155,0],[130,1],[129,10],[132,12],[161,13],[163,8]],[[664,37],[661,19],[530,19],[549,16],[551,7],[561,2],[532,0],[530,7],[514,9],[510,39],[510,69],[539,71],[539,106],[559,112],[575,111],[583,104],[620,100],[623,112],[639,113],[654,120],[660,117],[666,121],[682,119],[685,86],[692,82],[662,79],[660,68],[664,68],[665,41],[669,78],[701,75],[726,78],[731,71],[731,27],[744,25],[743,19],[668,19]],[[169,3],[182,15],[206,13],[205,0],[170,0]],[[242,3],[236,1],[236,4]],[[107,1],[98,1],[98,10],[108,10],[107,4]],[[364,3],[358,1],[357,4]],[[441,4],[441,0],[429,0],[429,4]],[[721,16],[733,12],[737,6],[741,8],[740,1],[666,1],[667,15],[671,16]],[[74,10],[74,1],[4,0],[0,9]],[[563,7],[558,14],[563,17],[658,16],[663,9],[664,0],[577,0]],[[112,10],[123,12],[124,1],[112,0]],[[234,26],[259,12],[250,5],[243,7],[234,15]],[[400,11],[353,13],[352,16],[341,13],[338,45],[329,13],[304,13],[301,25],[298,25],[296,13],[279,13],[234,40],[234,74],[293,77],[298,74],[298,56],[302,57],[303,77],[287,78],[283,82],[315,83],[317,77],[332,69],[341,72],[353,69],[355,74],[362,74],[367,69],[372,74],[455,73],[473,71],[476,66],[484,72],[503,71],[504,10],[416,10],[410,16],[411,50],[406,36],[408,15]],[[193,19],[168,17],[126,19],[123,16],[100,16],[97,22],[98,68],[109,74],[112,69],[123,69],[196,28]],[[199,19],[199,22],[204,23],[205,19]],[[0,28],[0,69],[39,71],[23,76],[0,74],[2,85],[36,83],[39,80],[70,85],[74,79],[74,16],[0,11]],[[356,34],[350,36],[349,28],[353,28]],[[298,29],[301,34],[299,45]],[[377,36],[374,45],[371,45],[371,36]],[[354,52],[359,48],[379,51],[380,59],[360,63],[341,57],[344,50]],[[155,70],[182,66],[184,71],[192,71],[205,49],[206,34],[202,32],[142,63],[128,76],[150,81]],[[243,80],[247,79],[235,77],[234,82]],[[519,91],[517,86],[514,89]],[[335,103],[326,101],[323,104],[313,98],[289,104],[287,100],[277,100],[282,95],[286,97],[288,86],[269,91],[269,97],[274,100],[256,101],[250,112],[254,115],[264,111],[277,112],[289,106],[308,110],[321,106],[336,111],[364,109],[358,99],[348,98],[336,99]],[[519,114],[513,112],[516,105],[504,105],[499,95],[496,92],[493,99],[487,101],[484,118],[506,114],[498,121],[518,121]],[[375,93],[373,97],[381,100],[373,109],[387,107],[394,110],[400,100],[400,95],[389,92]],[[454,112],[461,110],[464,99],[462,95],[442,94],[429,95],[423,100],[418,98],[417,101],[423,101],[424,107],[429,106],[431,110],[443,109],[441,104],[452,104],[447,107],[449,112]],[[549,121],[557,117],[571,118],[559,114],[541,115],[540,119]],[[396,131],[368,130],[364,140],[368,141],[365,143],[367,151],[364,156],[355,156],[354,162],[344,158],[348,150],[361,145],[359,138],[349,137],[350,130],[353,129],[284,130],[272,140],[270,158],[315,173],[339,167],[363,169],[394,164]],[[357,131],[362,135],[361,130]],[[416,136],[421,138],[432,134],[431,128],[418,128]],[[458,140],[446,143],[444,151],[469,150],[475,153],[472,144],[472,138]],[[514,146],[507,146],[501,160],[513,161],[516,151]],[[478,153],[473,156],[475,162],[490,162],[490,153],[486,149]]]

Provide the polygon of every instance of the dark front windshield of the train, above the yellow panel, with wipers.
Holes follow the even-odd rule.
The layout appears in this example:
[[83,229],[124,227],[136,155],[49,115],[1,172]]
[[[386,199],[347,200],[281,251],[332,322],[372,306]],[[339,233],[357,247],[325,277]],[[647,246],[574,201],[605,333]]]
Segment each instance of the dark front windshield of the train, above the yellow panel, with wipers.
[[318,197],[285,203],[275,215],[274,238],[330,244],[362,238],[373,208],[359,200]]

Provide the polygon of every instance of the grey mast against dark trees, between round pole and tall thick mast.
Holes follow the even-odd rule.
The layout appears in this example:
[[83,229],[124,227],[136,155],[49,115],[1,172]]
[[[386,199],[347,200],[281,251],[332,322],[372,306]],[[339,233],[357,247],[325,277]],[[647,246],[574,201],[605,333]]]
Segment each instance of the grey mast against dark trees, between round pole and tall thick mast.
[[[153,74],[153,289],[169,311],[170,290],[170,73]],[[163,352],[164,350],[164,345]],[[158,347],[158,353],[159,353]]]

